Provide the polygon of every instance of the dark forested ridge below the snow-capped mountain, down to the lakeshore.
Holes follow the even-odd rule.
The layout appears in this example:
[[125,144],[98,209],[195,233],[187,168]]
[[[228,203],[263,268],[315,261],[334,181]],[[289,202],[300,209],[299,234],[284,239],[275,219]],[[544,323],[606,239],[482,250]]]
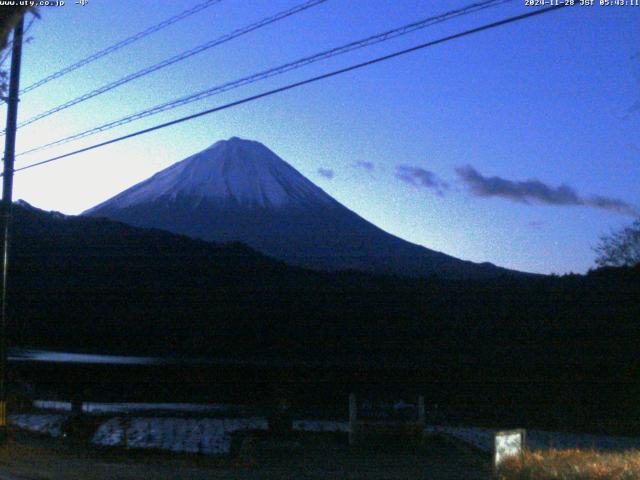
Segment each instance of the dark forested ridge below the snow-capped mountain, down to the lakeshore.
[[16,205],[14,345],[632,379],[640,268],[452,281],[321,273],[240,244]]

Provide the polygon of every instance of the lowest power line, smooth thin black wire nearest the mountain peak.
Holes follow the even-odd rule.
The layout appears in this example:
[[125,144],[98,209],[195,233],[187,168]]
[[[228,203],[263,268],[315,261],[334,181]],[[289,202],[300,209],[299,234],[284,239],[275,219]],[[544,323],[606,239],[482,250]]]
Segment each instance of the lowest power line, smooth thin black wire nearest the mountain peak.
[[261,98],[270,97],[271,95],[275,95],[277,93],[285,92],[287,90],[292,90],[294,88],[298,88],[298,87],[301,87],[303,85],[308,85],[310,83],[315,83],[315,82],[318,82],[320,80],[325,80],[327,78],[335,77],[335,76],[341,75],[343,73],[347,73],[347,72],[351,72],[353,70],[358,70],[360,68],[368,67],[370,65],[374,65],[374,64],[377,64],[377,63],[380,63],[380,62],[384,62],[386,60],[390,60],[390,59],[393,59],[393,58],[396,58],[396,57],[400,57],[402,55],[406,55],[408,53],[416,52],[418,50],[422,50],[422,49],[425,49],[425,48],[428,48],[428,47],[432,47],[432,46],[435,46],[435,45],[438,45],[438,44],[441,44],[441,43],[445,43],[445,42],[448,42],[448,41],[451,41],[451,40],[455,40],[455,39],[458,39],[458,38],[466,37],[466,36],[472,35],[474,33],[479,33],[479,32],[485,31],[485,30],[490,30],[492,28],[500,27],[502,25],[507,25],[507,24],[510,24],[510,23],[514,23],[514,22],[517,22],[517,21],[520,21],[520,20],[524,20],[526,18],[531,18],[531,17],[537,16],[537,15],[541,15],[543,13],[547,13],[547,12],[551,12],[551,11],[554,11],[554,10],[558,10],[558,9],[564,8],[566,6],[567,6],[567,4],[559,4],[559,5],[555,5],[555,6],[551,6],[551,7],[547,7],[547,8],[543,8],[543,9],[539,9],[539,10],[534,10],[534,11],[531,11],[531,12],[528,12],[528,13],[524,13],[524,14],[521,14],[521,15],[516,15],[514,17],[506,18],[504,20],[499,20],[497,22],[489,23],[489,24],[486,24],[486,25],[483,25],[483,26],[480,26],[480,27],[472,28],[470,30],[465,30],[465,31],[460,32],[460,33],[456,33],[456,34],[453,34],[453,35],[448,35],[448,36],[442,37],[442,38],[440,38],[438,40],[432,40],[432,41],[427,42],[427,43],[422,43],[422,44],[417,45],[415,47],[407,48],[407,49],[404,49],[404,50],[399,50],[397,52],[394,52],[394,53],[391,53],[391,54],[388,54],[388,55],[384,55],[384,56],[381,56],[381,57],[374,58],[372,60],[368,60],[366,62],[357,63],[355,65],[351,65],[349,67],[341,68],[341,69],[338,69],[338,70],[333,70],[333,71],[331,71],[329,73],[325,73],[325,74],[322,74],[322,75],[311,77],[311,78],[308,78],[306,80],[302,80],[300,82],[290,83],[288,85],[285,85],[284,87],[279,87],[279,88],[275,88],[273,90],[268,90],[266,92],[262,92],[262,93],[259,93],[259,94],[256,94],[256,95],[252,95],[250,97],[245,97],[245,98],[243,98],[241,100],[236,100],[235,102],[231,102],[231,103],[227,103],[225,105],[221,105],[219,107],[210,108],[208,110],[204,110],[202,112],[194,113],[192,115],[187,115],[186,117],[178,118],[178,119],[172,120],[170,122],[161,123],[161,124],[155,125],[153,127],[145,128],[143,130],[138,130],[137,132],[133,132],[133,133],[129,133],[127,135],[123,135],[121,137],[112,138],[111,140],[107,140],[105,142],[96,143],[96,144],[91,145],[89,147],[80,148],[78,150],[74,150],[72,152],[68,152],[68,153],[65,153],[65,154],[62,154],[62,155],[58,155],[58,156],[49,158],[47,160],[42,160],[40,162],[32,163],[30,165],[26,165],[24,167],[15,169],[15,172],[20,172],[22,170],[28,170],[30,168],[34,168],[34,167],[37,167],[37,166],[40,166],[40,165],[44,165],[46,163],[51,163],[51,162],[54,162],[54,161],[57,161],[57,160],[61,160],[63,158],[67,158],[67,157],[71,157],[71,156],[74,156],[74,155],[78,155],[80,153],[88,152],[90,150],[95,150],[96,148],[104,147],[106,145],[111,145],[112,143],[121,142],[123,140],[127,140],[127,139],[133,138],[133,137],[137,137],[137,136],[143,135],[145,133],[150,133],[150,132],[153,132],[153,131],[156,131],[156,130],[160,130],[162,128],[170,127],[172,125],[177,125],[179,123],[183,123],[183,122],[186,122],[188,120],[193,120],[195,118],[199,118],[199,117],[202,117],[202,116],[205,116],[205,115],[216,113],[216,112],[219,112],[221,110],[227,110],[229,108],[236,107],[238,105],[243,105],[245,103],[249,103],[249,102],[261,99]]

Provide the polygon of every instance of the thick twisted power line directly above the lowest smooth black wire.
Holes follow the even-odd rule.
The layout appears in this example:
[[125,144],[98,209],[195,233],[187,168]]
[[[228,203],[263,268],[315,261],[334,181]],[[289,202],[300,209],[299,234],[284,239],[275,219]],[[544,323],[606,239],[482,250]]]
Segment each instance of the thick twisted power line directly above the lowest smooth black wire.
[[131,115],[127,115],[125,117],[119,118],[117,120],[113,120],[111,122],[99,125],[97,127],[93,127],[90,128],[88,130],[84,130],[82,132],[79,133],[75,133],[73,135],[69,135],[67,137],[64,137],[62,139],[53,141],[53,142],[49,142],[47,144],[44,145],[40,145],[37,147],[34,147],[30,150],[24,151],[19,153],[20,155],[26,155],[28,153],[33,153],[33,152],[37,152],[37,151],[41,151],[47,148],[51,148],[54,146],[59,146],[74,140],[79,140],[81,138],[85,138],[88,137],[90,135],[94,135],[96,133],[100,133],[100,132],[104,132],[106,130],[111,130],[112,128],[116,128],[122,125],[125,125],[127,123],[131,123],[134,122],[136,120],[140,120],[142,118],[146,118],[152,115],[156,115],[158,113],[162,113],[168,110],[172,110],[174,108],[177,107],[181,107],[183,105],[187,105],[189,103],[193,103],[199,100],[203,100],[205,98],[211,97],[213,95],[217,95],[220,93],[224,93],[227,92],[229,90],[233,90],[235,88],[239,88],[245,85],[249,85],[255,82],[258,82],[260,80],[264,80],[270,77],[274,77],[276,75],[281,75],[284,73],[287,73],[289,71],[292,70],[296,70],[298,68],[302,68],[304,66],[310,65],[312,63],[316,63],[319,62],[321,60],[326,60],[328,58],[334,57],[334,56],[338,56],[338,55],[342,55],[354,50],[358,50],[364,47],[368,47],[377,43],[381,43],[381,42],[385,42],[387,40],[391,40],[393,38],[402,36],[402,35],[406,35],[408,33],[414,32],[416,30],[420,30],[438,23],[442,23],[445,22],[447,20],[451,20],[453,18],[459,17],[459,16],[463,16],[463,15],[468,15],[480,10],[484,10],[486,8],[490,8],[490,7],[494,7],[503,3],[507,3],[507,2],[511,2],[512,0],[485,0],[482,2],[478,2],[478,3],[473,3],[471,5],[468,5],[466,7],[457,9],[457,10],[451,10],[449,12],[440,14],[440,15],[436,15],[436,16],[432,16],[432,17],[428,17],[422,20],[419,20],[417,22],[412,22],[406,25],[403,25],[401,27],[398,28],[394,28],[392,30],[388,30],[386,32],[383,33],[379,33],[376,35],[371,35],[369,37],[366,37],[364,39],[361,40],[356,40],[350,43],[347,43],[345,45],[339,46],[339,47],[335,47],[329,50],[325,50],[319,53],[316,53],[314,55],[311,56],[307,56],[307,57],[303,57],[301,59],[295,60],[293,62],[289,62],[289,63],[285,63],[284,65],[280,65],[278,67],[275,68],[270,68],[268,70],[264,70],[262,72],[259,73],[255,73],[253,75],[249,75],[247,77],[243,77],[240,78],[238,80],[233,80],[231,82],[227,82],[221,85],[217,85],[215,87],[212,88],[208,88],[206,90],[202,90],[200,92],[191,94],[191,95],[187,95],[181,98],[178,98],[176,100],[172,100],[169,102],[165,102],[159,105],[156,105],[154,107],[151,108],[147,108],[145,110],[142,110],[140,112],[131,114]]

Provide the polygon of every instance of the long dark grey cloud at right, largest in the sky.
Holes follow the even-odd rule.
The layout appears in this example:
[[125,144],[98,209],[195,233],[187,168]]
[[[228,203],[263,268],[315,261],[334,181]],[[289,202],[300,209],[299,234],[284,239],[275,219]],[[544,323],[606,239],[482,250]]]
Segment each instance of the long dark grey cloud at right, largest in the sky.
[[546,205],[582,205],[637,216],[640,212],[623,200],[592,195],[583,197],[568,185],[549,186],[540,180],[513,181],[501,177],[485,177],[470,165],[456,168],[456,173],[478,197],[502,197],[520,203]]

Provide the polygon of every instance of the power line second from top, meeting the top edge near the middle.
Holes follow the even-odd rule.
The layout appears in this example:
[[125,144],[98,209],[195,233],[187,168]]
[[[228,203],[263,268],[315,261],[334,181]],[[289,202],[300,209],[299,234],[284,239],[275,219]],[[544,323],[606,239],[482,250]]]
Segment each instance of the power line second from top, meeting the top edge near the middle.
[[293,8],[284,10],[282,12],[279,12],[275,15],[272,15],[270,17],[266,17],[263,18],[262,20],[252,23],[246,27],[243,28],[239,28],[237,30],[234,30],[231,33],[228,33],[226,35],[223,35],[221,37],[216,38],[215,40],[211,40],[209,42],[203,43],[202,45],[199,45],[195,48],[192,48],[190,50],[186,50],[182,53],[179,53],[178,55],[174,55],[171,58],[167,58],[159,63],[156,63],[155,65],[152,65],[150,67],[147,68],[143,68],[142,70],[138,70],[135,73],[132,73],[130,75],[127,75],[126,77],[122,77],[119,80],[116,80],[115,82],[111,82],[108,83],[106,85],[103,85],[99,88],[96,88],[95,90],[92,90],[91,92],[85,93],[84,95],[80,95],[79,97],[74,98],[73,100],[69,100],[68,102],[63,103],[62,105],[58,105],[57,107],[54,107],[50,110],[47,110],[46,112],[42,112],[39,113],[27,120],[24,120],[20,123],[18,123],[18,127],[24,127],[26,125],[29,125],[31,123],[37,122],[38,120],[42,120],[45,117],[48,117],[50,115],[53,115],[54,113],[58,113],[61,110],[65,110],[69,107],[72,107],[74,105],[77,105],[78,103],[84,102],[86,100],[89,100],[90,98],[96,97],[98,95],[102,95],[103,93],[106,93],[110,90],[113,90],[114,88],[120,87],[126,83],[129,83],[137,78],[140,77],[144,77],[145,75],[149,75],[150,73],[156,72],[162,68],[168,67],[169,65],[173,65],[174,63],[177,62],[181,62],[183,60],[186,60],[187,58],[193,57],[194,55],[197,55],[199,53],[204,52],[205,50],[209,50],[210,48],[216,47],[218,45],[221,45],[223,43],[226,43],[230,40],[233,40],[234,38],[240,37],[242,35],[246,35],[247,33],[250,33],[254,30],[257,30],[259,28],[265,27],[267,25],[270,25],[272,23],[275,23],[279,20],[283,20],[287,17],[290,17],[291,15],[295,15],[296,13],[302,12],[304,10],[307,10],[311,7],[315,7],[316,5],[319,5],[321,3],[326,2],[327,0],[308,0],[304,3],[301,3],[299,5],[296,5]]

